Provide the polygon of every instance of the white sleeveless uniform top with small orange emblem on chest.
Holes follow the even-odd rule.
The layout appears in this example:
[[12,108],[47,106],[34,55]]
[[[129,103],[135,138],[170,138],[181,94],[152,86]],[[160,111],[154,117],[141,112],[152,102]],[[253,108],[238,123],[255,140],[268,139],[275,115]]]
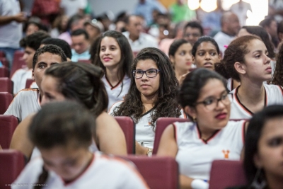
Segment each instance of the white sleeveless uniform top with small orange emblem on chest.
[[180,174],[209,181],[212,161],[216,159],[240,160],[244,144],[245,121],[229,121],[204,141],[195,122],[174,122],[178,145],[176,161]]

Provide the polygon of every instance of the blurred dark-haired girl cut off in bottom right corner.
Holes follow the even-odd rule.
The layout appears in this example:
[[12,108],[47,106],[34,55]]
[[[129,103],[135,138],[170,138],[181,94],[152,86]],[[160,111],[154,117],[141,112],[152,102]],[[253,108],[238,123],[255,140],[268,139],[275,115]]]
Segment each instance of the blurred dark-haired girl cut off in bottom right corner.
[[283,188],[282,122],[283,105],[270,105],[253,115],[243,160],[248,185],[234,189]]

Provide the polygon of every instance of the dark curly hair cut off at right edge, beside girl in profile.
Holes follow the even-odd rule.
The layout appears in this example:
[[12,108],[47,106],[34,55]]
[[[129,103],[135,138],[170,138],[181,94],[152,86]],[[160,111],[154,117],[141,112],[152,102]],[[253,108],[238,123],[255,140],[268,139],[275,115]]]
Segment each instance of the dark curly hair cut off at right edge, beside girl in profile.
[[283,86],[283,45],[279,45],[277,54],[275,72],[272,76],[271,83],[273,85]]

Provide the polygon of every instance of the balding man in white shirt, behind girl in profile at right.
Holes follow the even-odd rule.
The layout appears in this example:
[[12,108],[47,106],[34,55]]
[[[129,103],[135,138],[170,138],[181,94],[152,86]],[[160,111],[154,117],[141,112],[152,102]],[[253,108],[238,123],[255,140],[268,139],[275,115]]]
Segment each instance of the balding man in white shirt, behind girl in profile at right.
[[230,11],[224,13],[221,16],[221,31],[214,36],[214,40],[219,46],[222,57],[224,57],[224,51],[226,50],[224,46],[229,45],[230,42],[236,38],[238,30],[240,30],[238,16]]

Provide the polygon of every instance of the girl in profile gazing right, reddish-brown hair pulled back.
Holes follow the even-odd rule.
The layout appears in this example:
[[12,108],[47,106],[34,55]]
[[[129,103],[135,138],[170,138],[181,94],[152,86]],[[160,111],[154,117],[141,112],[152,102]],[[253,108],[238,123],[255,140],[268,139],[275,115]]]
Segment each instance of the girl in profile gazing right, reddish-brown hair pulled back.
[[233,40],[221,65],[232,79],[241,83],[231,91],[230,119],[249,119],[265,106],[283,104],[282,87],[264,84],[272,78],[272,68],[267,47],[257,36]]

